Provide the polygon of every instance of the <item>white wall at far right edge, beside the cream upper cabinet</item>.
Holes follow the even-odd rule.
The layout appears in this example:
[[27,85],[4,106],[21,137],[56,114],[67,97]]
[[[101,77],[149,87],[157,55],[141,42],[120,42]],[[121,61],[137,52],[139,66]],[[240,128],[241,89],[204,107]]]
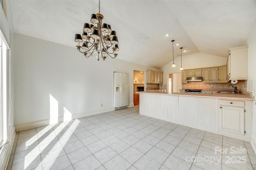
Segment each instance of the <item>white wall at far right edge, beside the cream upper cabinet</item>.
[[[247,36],[248,43],[248,91],[256,96],[256,20]],[[252,86],[253,83],[253,86]],[[256,143],[256,101],[253,102],[252,141]],[[256,144],[254,145],[256,151]]]

